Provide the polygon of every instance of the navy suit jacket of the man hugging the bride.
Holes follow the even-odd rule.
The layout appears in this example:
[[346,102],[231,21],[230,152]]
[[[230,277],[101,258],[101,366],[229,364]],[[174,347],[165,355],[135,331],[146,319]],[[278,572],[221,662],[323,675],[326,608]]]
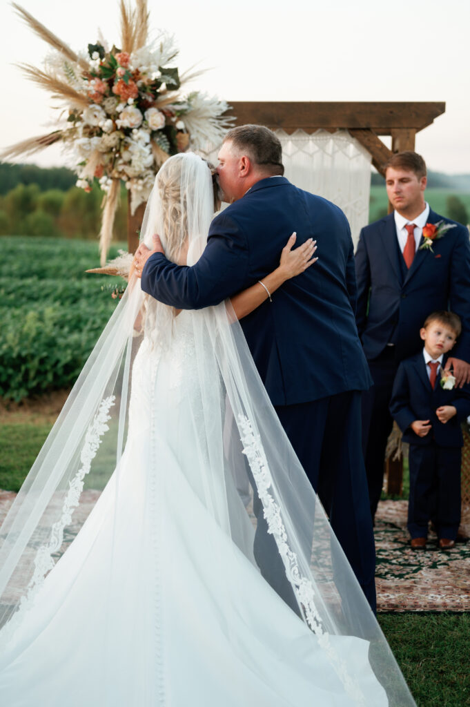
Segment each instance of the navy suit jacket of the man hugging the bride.
[[276,269],[294,230],[296,245],[317,240],[318,262],[240,322],[274,405],[370,387],[353,311],[353,243],[341,209],[285,177],[269,177],[213,219],[194,266],[155,253],[141,280],[143,291],[176,308],[217,305]]

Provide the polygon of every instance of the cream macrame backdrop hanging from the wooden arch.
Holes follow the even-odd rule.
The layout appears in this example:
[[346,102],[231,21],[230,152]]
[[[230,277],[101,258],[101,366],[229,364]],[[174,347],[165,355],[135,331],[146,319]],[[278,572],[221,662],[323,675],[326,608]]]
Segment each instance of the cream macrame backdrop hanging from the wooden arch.
[[[369,222],[370,153],[347,130],[274,132],[281,140],[285,176],[296,187],[337,204],[351,224],[356,247],[360,229]],[[215,165],[217,153],[213,146],[206,151]]]

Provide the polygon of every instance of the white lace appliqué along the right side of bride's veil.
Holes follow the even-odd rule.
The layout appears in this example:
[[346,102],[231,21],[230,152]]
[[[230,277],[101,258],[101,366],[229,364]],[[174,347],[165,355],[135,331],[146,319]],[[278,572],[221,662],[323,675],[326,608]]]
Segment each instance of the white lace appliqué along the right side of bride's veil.
[[252,423],[245,415],[239,414],[238,422],[242,430],[241,441],[243,444],[243,454],[247,457],[249,467],[252,470],[254,481],[257,485],[257,492],[263,504],[264,518],[268,524],[268,532],[276,540],[279,554],[286,568],[286,577],[292,585],[295,596],[305,614],[307,625],[310,626],[310,629],[315,633],[319,645],[329,656],[341,682],[343,682],[346,694],[358,705],[365,705],[363,692],[358,682],[349,674],[346,663],[339,658],[336,650],[334,650],[334,647],[331,645],[329,633],[324,631],[322,627],[321,618],[317,612],[317,607],[315,607],[315,589],[313,588],[312,582],[302,575],[298,563],[298,556],[288,546],[288,537],[286,527],[282,520],[281,508],[270,492],[272,481],[271,472],[269,471],[259,435],[254,433]]

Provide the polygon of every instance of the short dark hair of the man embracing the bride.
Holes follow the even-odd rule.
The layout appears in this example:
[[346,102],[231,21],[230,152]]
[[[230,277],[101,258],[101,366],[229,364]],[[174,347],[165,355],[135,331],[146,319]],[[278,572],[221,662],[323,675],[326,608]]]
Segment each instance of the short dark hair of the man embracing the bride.
[[274,132],[264,125],[237,125],[225,135],[237,150],[270,175],[283,175],[282,145]]

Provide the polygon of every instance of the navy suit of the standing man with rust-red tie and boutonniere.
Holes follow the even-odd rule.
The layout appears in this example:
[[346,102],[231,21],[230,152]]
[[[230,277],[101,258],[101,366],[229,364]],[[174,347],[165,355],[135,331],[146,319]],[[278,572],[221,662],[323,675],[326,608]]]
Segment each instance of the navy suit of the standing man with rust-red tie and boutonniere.
[[[455,223],[430,209],[427,222]],[[421,238],[420,246],[423,243]],[[394,214],[365,226],[356,252],[356,321],[374,386],[363,396],[365,467],[370,506],[375,515],[383,480],[384,452],[392,429],[389,402],[400,361],[422,349],[419,329],[436,310],[451,310],[462,320],[452,356],[470,362],[469,232],[456,224],[416,250],[410,269],[401,254]],[[394,346],[389,346],[394,344]]]

